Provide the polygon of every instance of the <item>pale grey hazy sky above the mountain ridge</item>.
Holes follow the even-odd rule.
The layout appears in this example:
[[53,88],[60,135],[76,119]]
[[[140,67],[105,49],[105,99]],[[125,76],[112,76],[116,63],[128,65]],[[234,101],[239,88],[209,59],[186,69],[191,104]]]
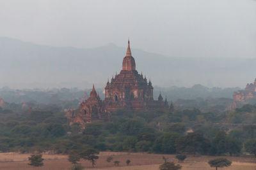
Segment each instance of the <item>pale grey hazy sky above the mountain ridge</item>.
[[0,0],[0,36],[173,57],[256,57],[253,0]]

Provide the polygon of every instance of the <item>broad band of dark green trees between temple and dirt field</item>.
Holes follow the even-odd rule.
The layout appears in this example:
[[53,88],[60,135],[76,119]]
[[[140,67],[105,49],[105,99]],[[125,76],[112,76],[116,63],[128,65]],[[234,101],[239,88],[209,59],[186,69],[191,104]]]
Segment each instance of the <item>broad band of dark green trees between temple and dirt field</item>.
[[[118,110],[112,114],[111,122],[98,121],[85,127],[69,125],[64,115],[52,105],[0,112],[0,151],[68,153],[95,148],[116,152],[256,155],[253,105],[223,113],[202,113],[196,109],[172,113]],[[237,121],[237,117],[241,119]]]

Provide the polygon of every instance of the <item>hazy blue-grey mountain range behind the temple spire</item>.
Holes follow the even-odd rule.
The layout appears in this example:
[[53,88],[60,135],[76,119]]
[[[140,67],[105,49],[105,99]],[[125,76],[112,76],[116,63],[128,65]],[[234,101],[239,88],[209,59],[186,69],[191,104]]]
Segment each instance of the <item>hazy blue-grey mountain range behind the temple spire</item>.
[[[132,42],[131,50],[136,69],[151,78],[154,86],[200,83],[208,87],[243,87],[256,76],[256,59],[166,57],[132,48]],[[122,69],[125,52],[126,46],[114,44],[98,48],[52,47],[0,37],[0,86],[90,88],[96,83],[104,87],[108,78]]]

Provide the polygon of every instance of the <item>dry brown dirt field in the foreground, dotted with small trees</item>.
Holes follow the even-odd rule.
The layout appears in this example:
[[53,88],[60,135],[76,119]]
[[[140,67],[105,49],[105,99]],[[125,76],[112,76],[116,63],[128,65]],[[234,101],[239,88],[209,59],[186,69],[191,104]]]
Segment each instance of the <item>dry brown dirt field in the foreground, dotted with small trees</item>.
[[[113,161],[119,160],[120,165],[115,167],[113,161],[108,163],[106,158],[113,156]],[[19,153],[0,153],[0,169],[10,170],[22,170],[22,169],[46,169],[56,170],[65,169],[68,170],[71,167],[70,162],[67,160],[67,155],[48,155],[44,154],[44,166],[43,167],[31,167],[28,165],[29,154]],[[87,161],[81,161],[86,169],[97,170],[97,169],[120,169],[120,170],[156,170],[159,164],[163,164],[163,155],[148,154],[148,153],[124,153],[124,152],[101,152],[99,155],[100,159],[97,160],[95,168],[92,168],[92,164]],[[177,162],[175,155],[164,155],[168,158],[169,162]],[[182,169],[184,170],[215,170],[210,167],[207,162],[210,159],[216,157],[209,156],[193,156],[188,155],[188,158],[181,163]],[[126,160],[131,160],[129,166],[126,166]],[[252,157],[227,157],[232,160],[232,166],[220,168],[220,170],[256,170],[256,159]]]

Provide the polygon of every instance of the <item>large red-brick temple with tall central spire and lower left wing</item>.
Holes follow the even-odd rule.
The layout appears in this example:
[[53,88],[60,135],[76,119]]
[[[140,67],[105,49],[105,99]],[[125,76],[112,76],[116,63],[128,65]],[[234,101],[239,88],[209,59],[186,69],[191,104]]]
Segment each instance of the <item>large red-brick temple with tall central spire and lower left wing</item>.
[[172,110],[167,99],[163,100],[161,93],[158,99],[154,100],[153,89],[151,81],[147,81],[146,76],[136,71],[136,63],[128,41],[122,70],[106,83],[104,101],[97,95],[93,85],[90,97],[80,104],[78,110],[68,110],[66,117],[70,120],[70,124],[74,122],[86,124],[93,120],[110,120],[111,113],[120,108],[132,111]]

